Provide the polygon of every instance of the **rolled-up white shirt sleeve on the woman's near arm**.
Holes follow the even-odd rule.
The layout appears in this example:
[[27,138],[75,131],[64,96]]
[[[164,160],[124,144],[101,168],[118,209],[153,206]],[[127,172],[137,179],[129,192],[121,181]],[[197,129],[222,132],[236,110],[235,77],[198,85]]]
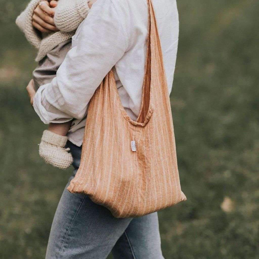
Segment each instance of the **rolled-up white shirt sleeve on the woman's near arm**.
[[95,90],[127,45],[127,34],[112,0],[98,0],[72,38],[72,48],[56,77],[34,96],[33,107],[40,119],[48,124],[84,118]]

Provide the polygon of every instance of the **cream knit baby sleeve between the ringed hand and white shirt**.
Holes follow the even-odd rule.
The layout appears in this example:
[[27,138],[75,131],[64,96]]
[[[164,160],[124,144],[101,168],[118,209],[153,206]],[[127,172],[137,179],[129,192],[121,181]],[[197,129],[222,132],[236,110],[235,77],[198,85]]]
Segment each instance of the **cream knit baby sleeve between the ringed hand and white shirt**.
[[59,0],[55,8],[54,23],[63,32],[71,32],[77,29],[80,23],[87,17],[90,0]]

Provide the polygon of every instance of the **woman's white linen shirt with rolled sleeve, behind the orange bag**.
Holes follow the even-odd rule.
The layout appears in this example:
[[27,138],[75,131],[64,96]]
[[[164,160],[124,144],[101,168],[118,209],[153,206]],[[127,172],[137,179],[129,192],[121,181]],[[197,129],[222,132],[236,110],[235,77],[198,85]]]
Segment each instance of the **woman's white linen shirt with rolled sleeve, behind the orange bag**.
[[[169,93],[174,77],[179,20],[175,0],[153,0]],[[72,48],[33,107],[45,123],[75,118],[68,139],[82,145],[88,103],[113,68],[122,105],[138,117],[147,49],[147,0],[97,0],[72,38]]]

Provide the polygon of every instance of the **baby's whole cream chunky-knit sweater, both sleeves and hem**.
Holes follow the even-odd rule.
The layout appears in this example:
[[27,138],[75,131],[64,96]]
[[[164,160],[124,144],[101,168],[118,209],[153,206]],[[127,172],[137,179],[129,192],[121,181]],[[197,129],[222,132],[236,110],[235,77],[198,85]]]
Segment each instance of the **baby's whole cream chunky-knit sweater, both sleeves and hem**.
[[41,1],[31,0],[16,19],[16,24],[24,32],[26,39],[38,49],[35,61],[40,61],[62,41],[70,39],[90,10],[90,0],[59,0],[55,8],[54,23],[60,31],[42,35],[32,26],[33,11]]

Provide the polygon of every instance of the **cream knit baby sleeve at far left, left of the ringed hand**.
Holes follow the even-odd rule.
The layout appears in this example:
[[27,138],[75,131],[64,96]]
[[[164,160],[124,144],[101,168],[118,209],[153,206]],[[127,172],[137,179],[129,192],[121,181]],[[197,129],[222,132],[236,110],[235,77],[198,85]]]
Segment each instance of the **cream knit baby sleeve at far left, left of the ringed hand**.
[[33,11],[41,0],[31,0],[26,9],[16,18],[15,23],[25,34],[26,39],[36,48],[39,48],[41,34],[32,26]]

